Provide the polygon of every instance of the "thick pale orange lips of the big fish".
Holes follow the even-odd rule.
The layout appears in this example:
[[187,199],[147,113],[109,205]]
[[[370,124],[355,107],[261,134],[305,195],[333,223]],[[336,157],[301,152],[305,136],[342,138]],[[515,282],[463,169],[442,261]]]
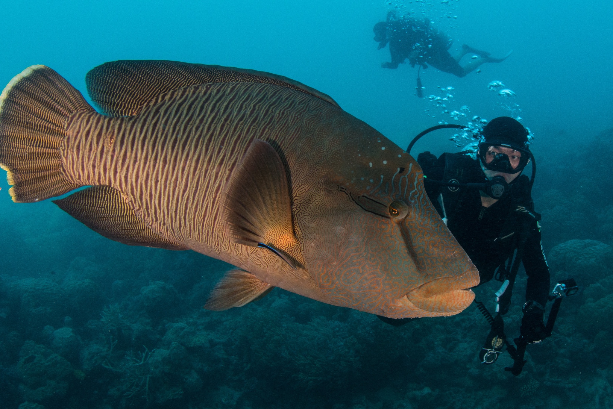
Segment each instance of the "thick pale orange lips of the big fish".
[[473,302],[474,292],[470,288],[477,285],[479,273],[472,267],[462,275],[437,278],[409,291],[402,304],[408,302],[421,310],[418,314],[421,316],[455,315]]

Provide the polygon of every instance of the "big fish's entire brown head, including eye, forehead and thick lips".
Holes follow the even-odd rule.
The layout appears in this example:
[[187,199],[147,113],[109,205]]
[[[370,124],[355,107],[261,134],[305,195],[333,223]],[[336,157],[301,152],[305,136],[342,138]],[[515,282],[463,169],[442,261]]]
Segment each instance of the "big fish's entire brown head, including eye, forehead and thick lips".
[[460,313],[478,270],[428,199],[419,164],[386,144],[356,148],[356,163],[322,182],[302,229],[305,268],[330,304],[389,318]]

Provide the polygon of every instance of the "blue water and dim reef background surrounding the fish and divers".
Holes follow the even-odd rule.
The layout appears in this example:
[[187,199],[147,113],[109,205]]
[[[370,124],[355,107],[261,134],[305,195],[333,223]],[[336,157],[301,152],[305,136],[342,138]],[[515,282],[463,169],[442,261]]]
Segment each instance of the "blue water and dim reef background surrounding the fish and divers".
[[[429,67],[425,96],[454,88],[447,107],[434,107],[414,96],[416,68],[380,66],[389,51],[376,50],[372,28],[394,7],[425,13],[452,49],[514,52],[464,78]],[[508,356],[478,362],[488,327],[474,307],[392,327],[275,289],[253,305],[207,312],[223,262],[111,242],[50,201],[13,204],[2,180],[0,408],[613,405],[612,2],[31,1],[2,2],[0,12],[2,85],[32,64],[83,94],[86,72],[116,59],[256,69],[329,94],[402,147],[453,123],[445,109],[468,106],[462,123],[521,109],[535,135],[533,196],[552,281],[582,286],[515,378],[503,370]],[[516,96],[498,97],[493,80]],[[453,134],[430,134],[415,152],[457,151]],[[525,275],[519,281],[507,315],[514,336]],[[478,295],[489,299],[493,286]]]

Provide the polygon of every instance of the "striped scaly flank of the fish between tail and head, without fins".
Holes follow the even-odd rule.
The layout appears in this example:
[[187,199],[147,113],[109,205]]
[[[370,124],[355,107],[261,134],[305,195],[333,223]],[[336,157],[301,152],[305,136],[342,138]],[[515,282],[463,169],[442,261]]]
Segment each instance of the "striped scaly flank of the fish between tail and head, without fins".
[[[348,145],[381,137],[343,110],[298,91],[217,83],[171,91],[134,117],[79,112],[70,118],[62,157],[72,183],[112,186],[163,237],[283,286],[271,271],[287,270],[283,261],[233,243],[225,232],[224,192],[232,169],[254,139],[275,143],[291,172],[300,236],[300,220],[318,216],[330,201],[322,191],[351,174],[339,160]],[[311,283],[305,275],[301,285],[304,278]]]

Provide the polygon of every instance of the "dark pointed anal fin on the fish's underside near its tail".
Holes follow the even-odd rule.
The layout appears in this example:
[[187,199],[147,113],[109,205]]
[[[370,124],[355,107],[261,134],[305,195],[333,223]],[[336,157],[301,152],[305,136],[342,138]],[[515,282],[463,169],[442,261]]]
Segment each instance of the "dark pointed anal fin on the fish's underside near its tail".
[[111,186],[92,186],[53,203],[107,239],[131,246],[189,250],[151,230]]

